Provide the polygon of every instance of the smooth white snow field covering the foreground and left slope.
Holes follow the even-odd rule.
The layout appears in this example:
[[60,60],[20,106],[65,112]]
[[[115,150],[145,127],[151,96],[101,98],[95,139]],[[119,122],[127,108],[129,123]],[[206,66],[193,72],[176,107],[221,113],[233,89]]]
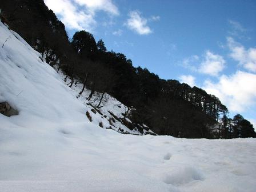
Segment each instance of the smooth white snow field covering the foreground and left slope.
[[0,191],[256,191],[256,140],[102,129],[88,106],[0,22]]

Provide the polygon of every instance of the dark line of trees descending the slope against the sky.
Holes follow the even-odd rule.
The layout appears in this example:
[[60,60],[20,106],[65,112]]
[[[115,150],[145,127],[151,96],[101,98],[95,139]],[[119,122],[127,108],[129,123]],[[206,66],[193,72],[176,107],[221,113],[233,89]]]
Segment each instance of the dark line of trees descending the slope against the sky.
[[[66,74],[67,85],[81,83],[90,90],[87,100],[101,93],[96,107],[102,106],[106,93],[129,109],[133,123],[145,123],[161,135],[185,138],[255,137],[253,126],[242,115],[229,118],[229,110],[217,97],[198,87],[134,67],[122,53],[108,51],[102,39],[81,30],[73,38],[65,25],[43,0],[11,0],[0,5],[2,18],[17,31],[49,65]],[[217,123],[219,122],[219,123]]]

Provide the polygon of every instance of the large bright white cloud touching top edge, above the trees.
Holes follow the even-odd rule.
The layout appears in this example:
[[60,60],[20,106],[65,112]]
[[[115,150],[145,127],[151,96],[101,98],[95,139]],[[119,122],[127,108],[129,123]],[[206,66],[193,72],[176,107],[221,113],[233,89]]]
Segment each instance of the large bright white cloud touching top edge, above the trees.
[[45,0],[45,3],[69,29],[92,31],[97,25],[97,11],[119,14],[111,0]]

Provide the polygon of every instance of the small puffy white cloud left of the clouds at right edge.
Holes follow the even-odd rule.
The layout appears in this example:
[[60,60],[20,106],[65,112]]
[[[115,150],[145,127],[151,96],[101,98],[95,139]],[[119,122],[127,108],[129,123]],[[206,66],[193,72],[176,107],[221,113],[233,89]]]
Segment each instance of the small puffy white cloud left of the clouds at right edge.
[[221,55],[213,54],[206,51],[204,60],[199,66],[199,73],[208,74],[211,76],[218,76],[219,73],[225,68],[225,60]]

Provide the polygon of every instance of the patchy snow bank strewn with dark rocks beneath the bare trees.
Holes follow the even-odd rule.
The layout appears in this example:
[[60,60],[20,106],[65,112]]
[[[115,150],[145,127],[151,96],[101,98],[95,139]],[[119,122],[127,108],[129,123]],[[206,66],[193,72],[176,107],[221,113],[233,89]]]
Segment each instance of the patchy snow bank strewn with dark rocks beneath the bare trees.
[[[63,79],[63,83],[69,85],[71,79],[65,77],[62,72],[60,72],[59,75]],[[101,93],[95,93],[90,101],[88,101],[86,98],[89,97],[91,91],[85,88],[83,93],[79,95],[82,87],[83,85],[81,83],[78,83],[77,85],[74,83],[74,85],[71,87],[71,92],[74,97],[78,98],[84,105],[86,105],[87,113],[90,114],[92,119],[91,122],[93,122],[95,125],[102,123],[103,128],[113,129],[123,134],[156,135],[146,125],[135,125],[128,117],[125,117],[124,114],[127,111],[130,112],[130,109],[128,109],[127,106],[123,105],[123,103],[119,102],[117,99],[111,97],[109,94],[104,94],[100,108],[98,108],[97,111],[94,110],[96,109],[95,106],[97,106],[99,103]],[[126,125],[130,125],[130,129]]]

